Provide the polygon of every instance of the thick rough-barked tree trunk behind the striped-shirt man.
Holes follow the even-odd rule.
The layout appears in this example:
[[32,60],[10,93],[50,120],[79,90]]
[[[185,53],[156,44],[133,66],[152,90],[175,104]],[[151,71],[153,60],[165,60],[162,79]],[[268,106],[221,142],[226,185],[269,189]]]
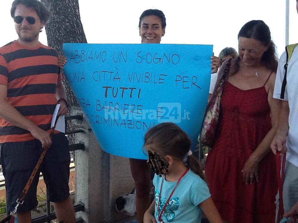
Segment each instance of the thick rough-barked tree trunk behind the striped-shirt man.
[[[51,46],[62,55],[62,44],[64,42],[87,43],[81,23],[79,0],[41,0],[41,2],[53,14],[50,21],[45,25],[48,46]],[[79,104],[64,75],[62,82],[71,110],[71,106],[78,106]],[[67,131],[71,130],[71,125],[67,125],[66,129]],[[74,137],[68,137],[68,139],[70,144],[75,141]]]

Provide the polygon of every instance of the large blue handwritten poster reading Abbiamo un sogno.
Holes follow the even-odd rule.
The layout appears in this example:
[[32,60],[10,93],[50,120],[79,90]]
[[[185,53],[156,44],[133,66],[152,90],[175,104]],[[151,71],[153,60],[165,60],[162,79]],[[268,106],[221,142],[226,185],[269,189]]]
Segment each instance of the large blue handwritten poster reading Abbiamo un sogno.
[[146,131],[174,122],[192,149],[207,104],[212,45],[63,44],[64,71],[102,149],[147,159]]

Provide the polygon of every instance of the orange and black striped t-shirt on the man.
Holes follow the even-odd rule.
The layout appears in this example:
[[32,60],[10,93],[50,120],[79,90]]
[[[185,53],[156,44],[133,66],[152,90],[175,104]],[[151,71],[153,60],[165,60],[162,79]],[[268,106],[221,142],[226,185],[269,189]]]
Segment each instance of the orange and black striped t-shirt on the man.
[[[61,80],[58,53],[51,47],[26,48],[15,40],[0,48],[0,84],[7,85],[8,103],[45,131],[51,130]],[[0,143],[33,139],[29,131],[0,118]]]

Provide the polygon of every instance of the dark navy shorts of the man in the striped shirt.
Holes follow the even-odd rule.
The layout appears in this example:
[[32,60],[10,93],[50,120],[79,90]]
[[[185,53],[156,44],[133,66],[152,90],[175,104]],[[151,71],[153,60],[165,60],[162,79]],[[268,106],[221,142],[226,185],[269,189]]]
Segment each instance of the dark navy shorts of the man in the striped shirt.
[[[1,144],[1,164],[5,177],[8,211],[14,210],[16,200],[20,197],[42,152],[42,144],[37,139]],[[47,150],[43,163],[40,165],[47,193],[52,202],[60,202],[69,197],[69,164],[67,138],[64,133],[53,135],[51,147]],[[24,203],[18,207],[18,212],[28,212],[36,208],[39,173],[38,171],[25,196]]]

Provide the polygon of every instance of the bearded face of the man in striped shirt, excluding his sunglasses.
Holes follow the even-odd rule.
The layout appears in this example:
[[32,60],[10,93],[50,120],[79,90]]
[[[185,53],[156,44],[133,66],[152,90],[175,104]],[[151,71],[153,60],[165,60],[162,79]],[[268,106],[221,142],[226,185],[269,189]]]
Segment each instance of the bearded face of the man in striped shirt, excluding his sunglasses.
[[36,11],[33,8],[27,8],[24,5],[19,4],[16,7],[15,17],[16,16],[29,16],[35,19],[34,24],[30,24],[26,18],[23,18],[23,21],[18,24],[15,19],[15,28],[16,33],[19,35],[19,39],[24,42],[38,40],[39,31],[43,28],[44,22],[40,21]]

